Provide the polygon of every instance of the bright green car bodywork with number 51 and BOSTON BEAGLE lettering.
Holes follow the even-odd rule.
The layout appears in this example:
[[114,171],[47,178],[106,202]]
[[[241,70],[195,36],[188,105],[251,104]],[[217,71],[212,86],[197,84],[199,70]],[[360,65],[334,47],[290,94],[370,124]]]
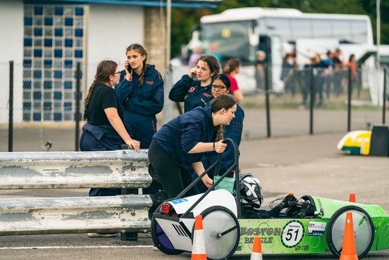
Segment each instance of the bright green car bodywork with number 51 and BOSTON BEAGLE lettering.
[[326,241],[329,220],[343,206],[358,206],[372,218],[371,250],[389,248],[389,218],[380,206],[312,197],[320,218],[239,219],[240,241],[235,254],[251,254],[254,236],[261,237],[263,254],[330,252]]

